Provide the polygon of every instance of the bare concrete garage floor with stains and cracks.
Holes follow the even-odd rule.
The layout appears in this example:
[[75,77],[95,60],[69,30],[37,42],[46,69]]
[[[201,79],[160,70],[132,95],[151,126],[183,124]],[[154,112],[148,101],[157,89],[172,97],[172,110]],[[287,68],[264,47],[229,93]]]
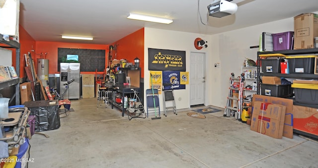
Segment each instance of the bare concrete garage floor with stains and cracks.
[[34,134],[29,168],[318,168],[318,143],[296,134],[274,139],[233,117],[187,116],[194,108],[129,121],[96,102],[72,100],[61,127],[41,132],[49,138]]

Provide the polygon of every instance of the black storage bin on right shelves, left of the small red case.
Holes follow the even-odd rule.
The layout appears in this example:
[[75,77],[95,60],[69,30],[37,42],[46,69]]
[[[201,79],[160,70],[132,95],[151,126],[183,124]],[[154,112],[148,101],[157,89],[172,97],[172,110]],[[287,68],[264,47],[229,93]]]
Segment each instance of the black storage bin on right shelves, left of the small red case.
[[280,58],[260,59],[262,73],[280,73],[280,61]]

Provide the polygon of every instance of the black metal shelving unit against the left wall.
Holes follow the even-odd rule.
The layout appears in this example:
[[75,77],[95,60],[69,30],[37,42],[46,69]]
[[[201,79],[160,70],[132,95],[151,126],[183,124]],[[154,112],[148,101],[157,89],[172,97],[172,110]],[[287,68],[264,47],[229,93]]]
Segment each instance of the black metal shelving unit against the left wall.
[[[16,71],[17,76],[20,78],[20,43],[18,43],[17,41],[13,41],[13,40],[5,41],[3,39],[3,35],[0,34],[0,47],[2,47],[2,48],[14,48],[15,49],[15,54],[16,54],[15,71]],[[11,99],[13,99],[15,97],[15,104],[16,105],[20,104],[19,78],[9,80],[9,81],[0,82],[0,89],[15,85],[15,94],[11,97]]]

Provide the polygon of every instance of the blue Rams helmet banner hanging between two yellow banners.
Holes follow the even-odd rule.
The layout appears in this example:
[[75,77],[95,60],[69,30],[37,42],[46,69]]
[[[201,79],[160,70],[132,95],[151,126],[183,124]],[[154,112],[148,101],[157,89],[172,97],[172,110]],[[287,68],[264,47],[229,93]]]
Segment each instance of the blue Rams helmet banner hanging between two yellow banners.
[[[162,84],[172,84],[173,89],[185,89],[185,84],[180,84],[179,71],[162,71]],[[164,90],[171,90],[170,86],[163,86]]]

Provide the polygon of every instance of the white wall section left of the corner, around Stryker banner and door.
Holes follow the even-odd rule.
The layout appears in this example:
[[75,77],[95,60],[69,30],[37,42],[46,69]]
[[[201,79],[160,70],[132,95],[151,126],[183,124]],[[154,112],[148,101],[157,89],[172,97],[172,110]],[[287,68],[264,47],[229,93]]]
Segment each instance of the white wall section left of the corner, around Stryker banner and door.
[[[208,48],[203,48],[201,50],[196,50],[194,48],[194,40],[200,37],[206,41],[208,41]],[[150,71],[148,70],[148,48],[156,48],[156,49],[167,49],[167,50],[179,50],[185,51],[186,53],[186,71],[190,71],[190,52],[202,52],[206,53],[206,69],[208,69],[208,63],[215,62],[212,57],[211,50],[211,35],[204,34],[194,34],[194,33],[186,33],[179,31],[168,31],[162,29],[154,29],[145,27],[145,90],[149,87],[150,83]],[[208,72],[208,70],[206,70]],[[210,76],[212,74],[207,74]],[[212,89],[208,86],[206,87],[207,93],[212,92]],[[146,91],[144,91],[146,92]],[[174,90],[174,99],[177,109],[190,108],[190,89],[189,85],[186,85],[186,89]],[[160,111],[163,111],[163,99],[162,94],[159,95],[160,99]],[[206,95],[206,100],[209,99],[209,94]],[[144,97],[146,100],[146,95]],[[144,102],[145,106],[146,101]]]

